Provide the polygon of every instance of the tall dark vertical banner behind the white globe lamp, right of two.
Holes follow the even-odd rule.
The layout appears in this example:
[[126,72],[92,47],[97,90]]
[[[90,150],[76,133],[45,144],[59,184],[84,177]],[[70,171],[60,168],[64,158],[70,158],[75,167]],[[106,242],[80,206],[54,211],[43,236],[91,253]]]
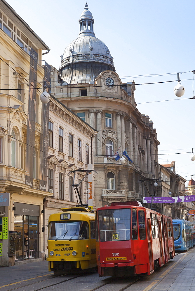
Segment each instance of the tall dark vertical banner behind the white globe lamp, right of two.
[[[43,91],[51,91],[51,67],[45,62]],[[39,188],[46,191],[47,186],[47,150],[48,150],[48,119],[49,119],[49,102],[42,103],[41,111],[41,139],[40,139],[40,177]]]

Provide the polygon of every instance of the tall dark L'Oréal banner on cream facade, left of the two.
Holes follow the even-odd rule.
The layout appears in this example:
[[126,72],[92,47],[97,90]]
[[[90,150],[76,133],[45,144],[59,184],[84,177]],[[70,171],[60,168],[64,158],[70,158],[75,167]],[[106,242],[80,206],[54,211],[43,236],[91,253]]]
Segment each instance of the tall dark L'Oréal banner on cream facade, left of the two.
[[38,152],[34,148],[35,123],[36,123],[36,80],[37,80],[37,60],[38,54],[31,48],[30,50],[30,73],[29,73],[29,97],[28,97],[28,121],[27,121],[27,145],[26,145],[26,171],[25,183],[33,187],[33,178],[36,177],[34,161],[38,157]]

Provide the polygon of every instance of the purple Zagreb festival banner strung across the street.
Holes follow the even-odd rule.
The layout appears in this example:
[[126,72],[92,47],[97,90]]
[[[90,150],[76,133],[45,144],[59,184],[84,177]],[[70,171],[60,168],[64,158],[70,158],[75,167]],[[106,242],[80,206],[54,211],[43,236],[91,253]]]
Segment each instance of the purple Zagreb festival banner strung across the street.
[[[154,197],[153,203],[178,203],[195,201],[195,195],[176,197]],[[143,197],[143,203],[151,203],[151,197]]]

